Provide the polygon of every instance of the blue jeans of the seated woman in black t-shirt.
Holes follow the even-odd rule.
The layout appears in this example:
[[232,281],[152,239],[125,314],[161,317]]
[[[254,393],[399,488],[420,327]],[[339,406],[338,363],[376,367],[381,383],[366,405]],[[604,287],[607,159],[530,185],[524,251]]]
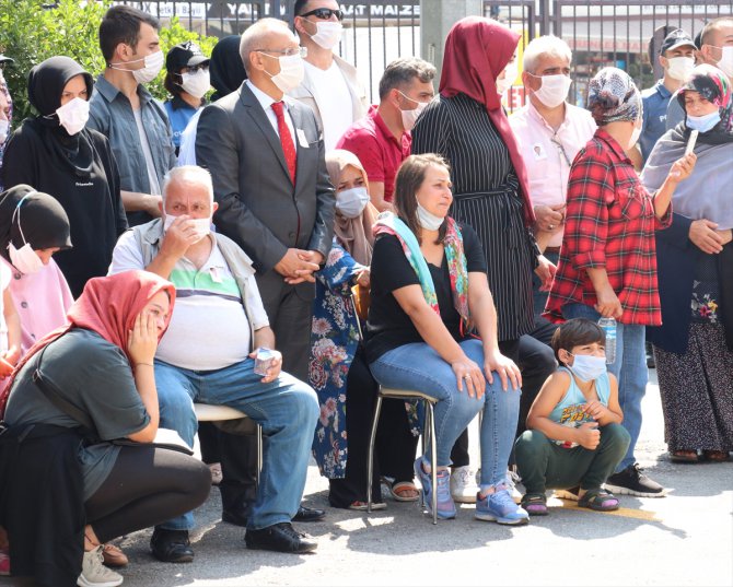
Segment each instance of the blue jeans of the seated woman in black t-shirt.
[[[461,342],[464,353],[481,368],[484,345],[476,339]],[[484,398],[470,398],[465,388],[458,391],[451,365],[424,342],[412,342],[393,349],[370,365],[374,378],[385,387],[415,389],[438,400],[435,403],[435,444],[438,466],[451,465],[451,448],[456,438],[484,410],[480,430],[481,485],[496,485],[507,476],[516,419],[520,390],[501,389],[499,376],[487,381]],[[430,451],[424,455],[430,462]]]

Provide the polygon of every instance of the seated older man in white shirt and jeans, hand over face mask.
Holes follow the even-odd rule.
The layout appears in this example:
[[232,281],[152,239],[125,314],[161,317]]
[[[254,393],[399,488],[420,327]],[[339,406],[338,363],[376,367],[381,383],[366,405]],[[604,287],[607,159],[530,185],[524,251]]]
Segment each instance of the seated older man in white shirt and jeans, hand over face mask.
[[[209,172],[183,166],[163,185],[163,218],[120,236],[110,273],[144,269],[176,286],[176,303],[155,354],[161,427],[189,445],[196,434],[193,401],[246,413],[267,437],[257,498],[248,516],[247,548],[303,553],[317,543],[295,531],[319,414],[311,387],[281,372],[272,350],[264,374],[254,372],[255,350],[274,349],[275,334],[259,296],[251,259],[230,238],[211,233],[213,186]],[[190,562],[191,513],[155,528],[153,554]]]

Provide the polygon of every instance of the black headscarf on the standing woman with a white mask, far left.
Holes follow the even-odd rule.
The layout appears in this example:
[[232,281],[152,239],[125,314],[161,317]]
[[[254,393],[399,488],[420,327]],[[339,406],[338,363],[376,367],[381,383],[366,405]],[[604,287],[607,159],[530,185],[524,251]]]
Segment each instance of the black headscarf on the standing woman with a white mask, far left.
[[49,148],[57,153],[79,176],[88,176],[94,162],[92,143],[82,130],[70,136],[60,126],[56,110],[61,106],[63,87],[71,78],[82,75],[86,83],[88,98],[92,97],[94,80],[90,73],[70,57],[56,56],[38,63],[28,73],[28,102],[39,113],[28,119],[38,132],[42,128],[50,132]]

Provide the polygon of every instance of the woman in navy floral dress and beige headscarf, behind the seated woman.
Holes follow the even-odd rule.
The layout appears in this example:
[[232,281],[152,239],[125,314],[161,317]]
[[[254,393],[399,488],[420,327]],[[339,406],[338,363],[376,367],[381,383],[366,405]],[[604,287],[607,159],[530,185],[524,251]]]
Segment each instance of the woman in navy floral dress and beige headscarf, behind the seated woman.
[[[369,289],[372,225],[377,211],[369,203],[366,173],[356,155],[331,151],[326,165],[336,187],[336,220],[331,250],[316,275],[309,378],[318,394],[321,418],[313,453],[321,473],[328,478],[330,505],[366,509],[369,434],[377,385],[361,355],[352,287]],[[419,430],[416,420],[412,411],[408,424],[405,402],[383,403],[376,460],[382,473],[395,478],[393,496],[403,501],[418,496],[412,483],[417,436],[411,430]],[[380,468],[375,465],[374,470]],[[373,507],[381,509],[385,504],[379,497],[380,474],[374,479],[372,494],[377,503]]]

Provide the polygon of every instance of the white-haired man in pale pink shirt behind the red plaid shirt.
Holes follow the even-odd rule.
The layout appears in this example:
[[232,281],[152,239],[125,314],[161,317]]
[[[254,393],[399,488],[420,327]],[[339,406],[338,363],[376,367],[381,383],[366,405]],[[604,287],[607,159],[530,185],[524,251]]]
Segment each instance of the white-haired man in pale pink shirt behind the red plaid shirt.
[[[509,118],[530,177],[530,198],[537,219],[534,226],[537,245],[554,263],[558,261],[562,244],[570,165],[596,128],[587,110],[566,102],[572,83],[571,59],[570,47],[561,38],[547,35],[533,39],[524,50],[522,73],[528,102]],[[535,280],[537,319],[546,302],[547,292],[540,292],[539,280]],[[536,322],[535,327],[538,326]],[[533,336],[549,343],[552,331],[554,328],[543,329]]]

